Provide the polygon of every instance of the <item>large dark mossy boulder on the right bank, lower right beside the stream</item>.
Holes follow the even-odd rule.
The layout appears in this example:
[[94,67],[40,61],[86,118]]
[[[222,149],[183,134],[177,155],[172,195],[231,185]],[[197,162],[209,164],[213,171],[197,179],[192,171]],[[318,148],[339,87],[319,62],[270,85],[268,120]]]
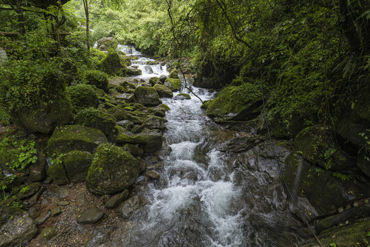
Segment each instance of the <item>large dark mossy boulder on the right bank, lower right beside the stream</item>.
[[352,176],[320,169],[298,154],[286,158],[284,176],[290,189],[297,196],[306,197],[320,216],[370,196],[369,185]]

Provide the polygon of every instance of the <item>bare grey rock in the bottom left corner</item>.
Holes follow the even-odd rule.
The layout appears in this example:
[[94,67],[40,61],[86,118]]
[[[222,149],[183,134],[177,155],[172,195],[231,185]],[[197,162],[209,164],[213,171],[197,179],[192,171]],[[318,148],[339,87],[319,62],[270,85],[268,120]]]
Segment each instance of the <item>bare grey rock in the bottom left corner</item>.
[[13,215],[0,228],[0,246],[21,246],[37,234],[37,227],[27,212]]

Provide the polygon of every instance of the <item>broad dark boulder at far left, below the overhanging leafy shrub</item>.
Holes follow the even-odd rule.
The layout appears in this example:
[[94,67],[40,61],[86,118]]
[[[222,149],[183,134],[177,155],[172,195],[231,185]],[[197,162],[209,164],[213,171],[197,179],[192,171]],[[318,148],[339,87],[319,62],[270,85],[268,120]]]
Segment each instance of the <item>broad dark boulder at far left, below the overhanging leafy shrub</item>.
[[48,102],[24,107],[11,112],[13,121],[29,132],[48,134],[56,126],[68,124],[73,119],[72,104],[66,93],[49,97]]

